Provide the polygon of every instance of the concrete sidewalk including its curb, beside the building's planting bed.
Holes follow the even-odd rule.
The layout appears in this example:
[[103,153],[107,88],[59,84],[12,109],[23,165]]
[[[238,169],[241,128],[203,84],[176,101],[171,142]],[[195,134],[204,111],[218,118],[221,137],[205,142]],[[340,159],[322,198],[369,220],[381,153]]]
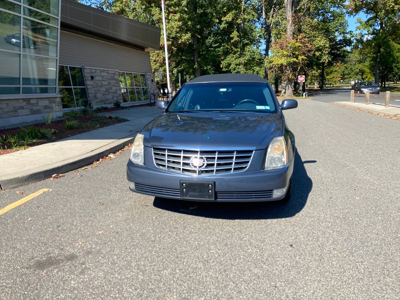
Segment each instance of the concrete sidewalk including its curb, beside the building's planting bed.
[[160,112],[154,106],[142,106],[99,114],[129,121],[1,155],[0,187],[6,190],[92,164],[132,143],[136,133]]

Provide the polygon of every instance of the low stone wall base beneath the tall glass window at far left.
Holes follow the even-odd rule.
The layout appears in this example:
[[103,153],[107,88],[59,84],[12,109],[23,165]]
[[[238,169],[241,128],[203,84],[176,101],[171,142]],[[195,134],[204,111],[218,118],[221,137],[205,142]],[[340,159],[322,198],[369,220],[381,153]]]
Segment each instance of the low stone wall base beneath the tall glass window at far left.
[[62,110],[61,97],[0,100],[0,119]]

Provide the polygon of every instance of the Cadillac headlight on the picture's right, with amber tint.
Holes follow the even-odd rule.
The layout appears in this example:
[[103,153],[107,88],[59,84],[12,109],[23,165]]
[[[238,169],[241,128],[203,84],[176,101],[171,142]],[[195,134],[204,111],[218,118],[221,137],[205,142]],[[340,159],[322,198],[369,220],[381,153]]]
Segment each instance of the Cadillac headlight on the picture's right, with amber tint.
[[288,164],[288,147],[283,136],[272,139],[268,146],[264,169],[282,168]]

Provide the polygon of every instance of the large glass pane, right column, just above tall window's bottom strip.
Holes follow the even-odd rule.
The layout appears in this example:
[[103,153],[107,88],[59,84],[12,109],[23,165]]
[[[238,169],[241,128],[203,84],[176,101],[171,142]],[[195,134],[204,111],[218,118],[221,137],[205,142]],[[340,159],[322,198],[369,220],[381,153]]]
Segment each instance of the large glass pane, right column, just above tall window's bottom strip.
[[22,55],[22,84],[55,86],[56,63],[54,58]]

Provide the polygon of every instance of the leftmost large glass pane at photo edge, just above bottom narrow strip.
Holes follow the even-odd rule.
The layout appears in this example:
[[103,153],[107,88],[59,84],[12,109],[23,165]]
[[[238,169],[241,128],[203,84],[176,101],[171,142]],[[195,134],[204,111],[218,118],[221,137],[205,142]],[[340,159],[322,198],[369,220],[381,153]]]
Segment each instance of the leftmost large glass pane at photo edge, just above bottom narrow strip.
[[0,51],[0,84],[20,84],[20,54]]

